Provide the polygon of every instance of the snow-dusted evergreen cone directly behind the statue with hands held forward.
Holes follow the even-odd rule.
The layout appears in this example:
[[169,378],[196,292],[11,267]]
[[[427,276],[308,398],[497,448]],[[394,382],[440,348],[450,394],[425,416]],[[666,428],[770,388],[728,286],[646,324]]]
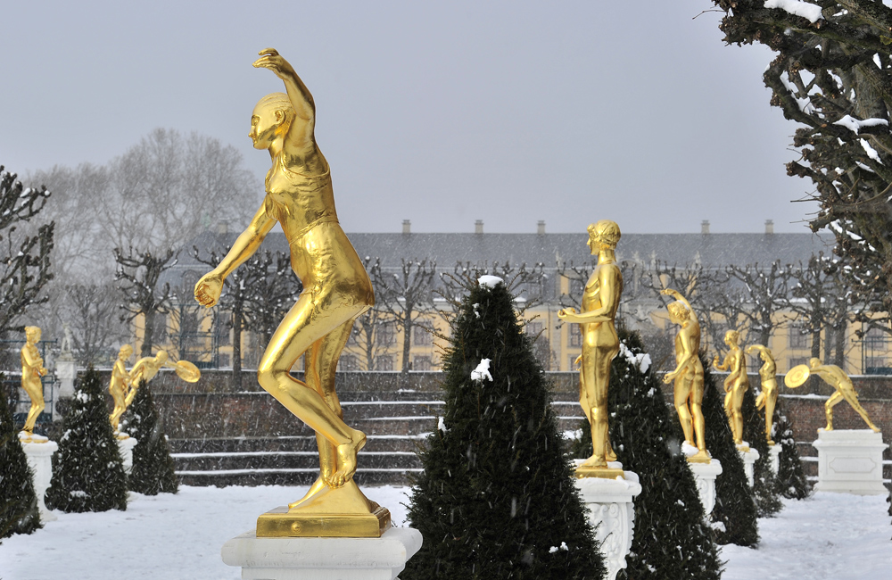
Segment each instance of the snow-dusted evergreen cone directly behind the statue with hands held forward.
[[610,371],[610,442],[623,468],[638,474],[641,493],[635,498],[632,550],[618,577],[717,580],[721,566],[697,484],[681,453],[678,417],[659,377],[650,372],[640,336],[623,328],[619,336],[624,346]]

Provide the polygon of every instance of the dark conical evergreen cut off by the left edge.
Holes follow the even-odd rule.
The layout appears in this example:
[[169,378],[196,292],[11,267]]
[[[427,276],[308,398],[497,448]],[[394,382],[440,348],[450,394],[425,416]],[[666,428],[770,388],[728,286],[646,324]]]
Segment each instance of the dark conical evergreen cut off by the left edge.
[[0,390],[0,538],[31,534],[41,526],[28,458],[21,448],[6,393]]

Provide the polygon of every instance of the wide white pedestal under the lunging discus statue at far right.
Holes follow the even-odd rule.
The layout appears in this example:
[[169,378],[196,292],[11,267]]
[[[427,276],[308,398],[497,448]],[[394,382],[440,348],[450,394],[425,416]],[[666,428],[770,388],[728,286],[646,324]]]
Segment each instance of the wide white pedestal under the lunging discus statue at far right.
[[880,495],[888,493],[883,486],[883,435],[869,429],[818,429],[819,492]]

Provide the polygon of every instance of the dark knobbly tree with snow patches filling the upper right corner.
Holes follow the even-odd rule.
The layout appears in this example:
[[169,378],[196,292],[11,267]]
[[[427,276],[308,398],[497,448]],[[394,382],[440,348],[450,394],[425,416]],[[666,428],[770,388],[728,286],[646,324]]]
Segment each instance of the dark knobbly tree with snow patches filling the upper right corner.
[[[861,320],[892,332],[892,8],[871,0],[822,0],[766,8],[714,0],[725,42],[760,43],[777,56],[764,72],[771,104],[797,123],[790,176],[809,178],[820,205],[814,231],[836,234]],[[789,9],[788,9],[789,8]]]

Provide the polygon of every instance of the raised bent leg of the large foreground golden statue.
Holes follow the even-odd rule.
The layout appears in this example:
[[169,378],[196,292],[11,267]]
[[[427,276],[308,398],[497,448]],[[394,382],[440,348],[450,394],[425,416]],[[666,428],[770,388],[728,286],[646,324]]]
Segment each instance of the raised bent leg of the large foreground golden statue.
[[[270,338],[257,369],[257,380],[264,390],[335,445],[339,468],[326,481],[331,487],[340,487],[353,476],[356,453],[365,444],[366,437],[347,427],[322,394],[292,377],[289,370],[313,343],[342,327],[366,308],[365,304],[344,304],[341,295],[301,294]],[[321,352],[318,362],[321,384],[324,371]]]

